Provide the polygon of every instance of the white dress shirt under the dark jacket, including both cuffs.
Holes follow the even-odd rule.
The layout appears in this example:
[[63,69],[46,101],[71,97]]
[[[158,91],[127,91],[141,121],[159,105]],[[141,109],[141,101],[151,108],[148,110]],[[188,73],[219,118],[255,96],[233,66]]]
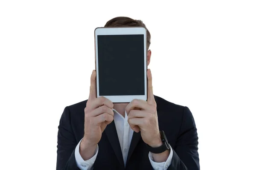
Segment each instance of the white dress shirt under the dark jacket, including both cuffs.
[[[116,125],[116,132],[117,132],[117,136],[118,136],[119,143],[121,146],[124,164],[126,164],[128,150],[129,150],[129,147],[131,144],[131,139],[132,139],[134,130],[132,130],[128,124],[128,116],[127,116],[126,112],[125,112],[125,117],[123,117],[115,109],[113,109],[113,112],[114,112],[114,122]],[[79,153],[80,143],[81,143],[81,141],[77,144],[76,149],[75,149],[76,164],[80,170],[92,170],[93,164],[98,155],[99,146],[97,145],[94,156],[91,159],[84,161],[84,159],[81,157],[81,155]],[[170,150],[171,150],[170,155],[165,162],[155,162],[154,158],[152,156],[152,153],[151,152],[148,153],[148,159],[149,159],[152,167],[154,168],[154,170],[167,170],[167,168],[172,163],[173,150],[172,150],[171,146],[170,146]]]

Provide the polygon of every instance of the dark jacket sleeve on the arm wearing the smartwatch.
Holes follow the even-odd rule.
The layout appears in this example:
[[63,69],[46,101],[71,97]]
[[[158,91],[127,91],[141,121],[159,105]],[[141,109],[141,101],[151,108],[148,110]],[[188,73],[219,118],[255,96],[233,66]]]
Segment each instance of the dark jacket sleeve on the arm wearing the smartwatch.
[[200,170],[198,134],[189,108],[184,107],[182,124],[173,148],[172,164],[168,170]]

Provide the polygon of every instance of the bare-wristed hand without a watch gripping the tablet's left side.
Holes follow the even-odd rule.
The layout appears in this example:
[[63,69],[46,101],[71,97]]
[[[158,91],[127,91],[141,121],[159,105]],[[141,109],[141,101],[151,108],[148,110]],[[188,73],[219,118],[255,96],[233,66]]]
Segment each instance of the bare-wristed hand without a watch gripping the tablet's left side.
[[96,98],[96,71],[90,79],[90,95],[84,108],[84,138],[80,144],[80,154],[84,160],[90,159],[102,137],[106,126],[113,121],[113,103],[101,96]]

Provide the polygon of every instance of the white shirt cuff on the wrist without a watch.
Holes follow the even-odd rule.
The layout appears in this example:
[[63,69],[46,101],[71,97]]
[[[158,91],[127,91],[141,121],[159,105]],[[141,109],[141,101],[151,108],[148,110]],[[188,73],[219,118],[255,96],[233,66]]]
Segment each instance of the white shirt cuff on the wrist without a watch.
[[99,147],[97,144],[96,147],[96,151],[94,153],[94,156],[91,159],[88,159],[86,161],[84,161],[84,159],[82,158],[82,156],[79,153],[79,149],[80,149],[80,143],[81,143],[82,139],[80,140],[80,142],[76,145],[76,149],[75,149],[75,159],[76,159],[76,165],[77,167],[79,167],[80,170],[92,170],[93,168],[93,164],[96,160],[96,157],[98,155],[98,151],[99,151]]

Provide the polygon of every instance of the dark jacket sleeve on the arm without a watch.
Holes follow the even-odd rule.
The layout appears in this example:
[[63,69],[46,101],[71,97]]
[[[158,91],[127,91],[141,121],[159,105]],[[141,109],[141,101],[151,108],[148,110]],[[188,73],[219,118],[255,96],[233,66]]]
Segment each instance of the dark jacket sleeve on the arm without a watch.
[[79,170],[75,159],[76,145],[76,138],[70,123],[70,110],[66,107],[58,126],[56,170]]

